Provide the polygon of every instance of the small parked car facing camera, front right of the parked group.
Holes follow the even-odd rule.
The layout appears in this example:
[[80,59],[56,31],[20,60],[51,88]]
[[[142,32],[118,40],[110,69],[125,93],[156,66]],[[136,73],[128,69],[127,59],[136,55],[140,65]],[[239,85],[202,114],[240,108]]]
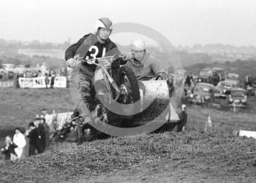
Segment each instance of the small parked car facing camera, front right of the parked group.
[[233,88],[228,96],[228,106],[246,107],[247,96],[244,88]]

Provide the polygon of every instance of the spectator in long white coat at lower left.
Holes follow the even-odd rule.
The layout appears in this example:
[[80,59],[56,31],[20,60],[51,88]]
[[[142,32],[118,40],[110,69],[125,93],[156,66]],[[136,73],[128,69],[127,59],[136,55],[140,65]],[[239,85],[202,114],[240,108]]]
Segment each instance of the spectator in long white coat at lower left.
[[15,128],[13,142],[17,145],[17,147],[15,148],[15,152],[18,159],[25,158],[26,139],[23,133],[20,132],[20,128]]

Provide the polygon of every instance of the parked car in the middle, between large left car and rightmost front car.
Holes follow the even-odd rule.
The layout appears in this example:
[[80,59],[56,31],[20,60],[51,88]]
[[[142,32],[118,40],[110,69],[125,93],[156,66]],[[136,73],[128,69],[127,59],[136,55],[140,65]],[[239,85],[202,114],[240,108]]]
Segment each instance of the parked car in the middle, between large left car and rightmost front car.
[[225,81],[221,81],[214,89],[214,97],[222,97],[226,98],[230,95],[230,91],[239,87],[240,82],[238,80],[226,79]]

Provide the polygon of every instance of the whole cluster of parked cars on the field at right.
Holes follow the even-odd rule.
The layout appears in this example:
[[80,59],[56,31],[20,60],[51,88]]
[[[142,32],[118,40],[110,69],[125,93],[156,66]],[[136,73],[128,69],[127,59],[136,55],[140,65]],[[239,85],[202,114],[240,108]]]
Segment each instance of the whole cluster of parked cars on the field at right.
[[[219,68],[201,70],[195,86],[186,92],[184,99],[191,104],[219,104],[245,108],[248,104],[247,96],[254,96],[256,87],[247,86],[245,90],[240,87],[238,74],[230,73],[225,77],[224,73],[225,71]],[[217,76],[218,78],[214,78]]]

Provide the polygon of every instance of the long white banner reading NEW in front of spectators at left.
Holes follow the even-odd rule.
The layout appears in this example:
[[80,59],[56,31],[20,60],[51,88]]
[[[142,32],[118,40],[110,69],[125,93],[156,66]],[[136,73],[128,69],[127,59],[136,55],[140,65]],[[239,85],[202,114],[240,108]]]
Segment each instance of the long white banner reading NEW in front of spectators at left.
[[[45,77],[32,77],[32,78],[20,77],[18,82],[21,88],[26,88],[26,87],[45,88],[46,87]],[[51,77],[48,77],[47,87],[50,87],[50,85],[51,85]],[[67,78],[54,77],[53,87],[67,87]]]

